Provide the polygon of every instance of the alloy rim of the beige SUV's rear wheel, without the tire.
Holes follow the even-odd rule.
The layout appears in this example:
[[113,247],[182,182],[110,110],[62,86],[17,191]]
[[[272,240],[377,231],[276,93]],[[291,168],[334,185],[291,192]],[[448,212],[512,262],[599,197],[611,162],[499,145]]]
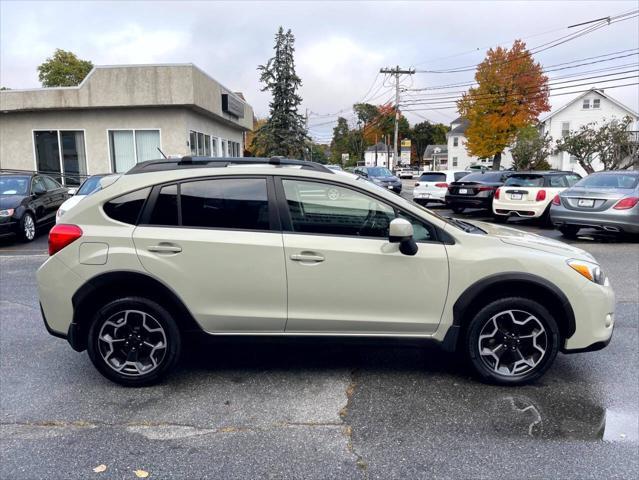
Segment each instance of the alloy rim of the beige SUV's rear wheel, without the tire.
[[114,371],[146,375],[162,364],[167,341],[164,328],[152,315],[123,310],[109,317],[98,334],[98,351]]

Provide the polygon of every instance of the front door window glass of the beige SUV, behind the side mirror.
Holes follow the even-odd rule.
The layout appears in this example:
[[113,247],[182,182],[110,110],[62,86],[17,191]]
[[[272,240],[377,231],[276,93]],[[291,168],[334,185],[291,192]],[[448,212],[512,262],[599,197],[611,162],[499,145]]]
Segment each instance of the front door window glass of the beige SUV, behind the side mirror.
[[338,185],[282,180],[294,232],[388,238],[395,210]]

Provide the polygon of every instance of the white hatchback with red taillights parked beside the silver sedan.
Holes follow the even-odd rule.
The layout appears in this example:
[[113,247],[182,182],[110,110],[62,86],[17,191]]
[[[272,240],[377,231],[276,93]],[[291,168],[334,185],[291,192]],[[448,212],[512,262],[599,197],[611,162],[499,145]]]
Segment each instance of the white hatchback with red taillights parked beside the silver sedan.
[[550,204],[556,195],[581,180],[575,172],[520,172],[508,177],[493,197],[493,214],[498,222],[511,216],[539,218],[550,223]]

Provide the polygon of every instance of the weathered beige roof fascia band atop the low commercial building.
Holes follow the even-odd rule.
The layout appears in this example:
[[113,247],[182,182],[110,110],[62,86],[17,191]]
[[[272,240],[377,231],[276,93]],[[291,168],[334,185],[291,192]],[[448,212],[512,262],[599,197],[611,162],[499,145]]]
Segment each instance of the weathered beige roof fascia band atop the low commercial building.
[[[229,101],[226,107],[222,105],[224,95]],[[3,114],[178,106],[215,117],[230,126],[244,130],[253,128],[253,109],[243,96],[192,63],[101,65],[93,67],[77,86],[0,92]]]

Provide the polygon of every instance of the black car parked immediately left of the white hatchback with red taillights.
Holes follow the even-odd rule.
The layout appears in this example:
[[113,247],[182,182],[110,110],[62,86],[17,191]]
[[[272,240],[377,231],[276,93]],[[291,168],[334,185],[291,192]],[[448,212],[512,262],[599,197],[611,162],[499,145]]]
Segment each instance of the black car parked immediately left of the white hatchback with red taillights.
[[446,192],[446,205],[453,212],[461,213],[465,208],[493,208],[495,191],[513,172],[476,172],[466,175],[458,182],[451,182]]

